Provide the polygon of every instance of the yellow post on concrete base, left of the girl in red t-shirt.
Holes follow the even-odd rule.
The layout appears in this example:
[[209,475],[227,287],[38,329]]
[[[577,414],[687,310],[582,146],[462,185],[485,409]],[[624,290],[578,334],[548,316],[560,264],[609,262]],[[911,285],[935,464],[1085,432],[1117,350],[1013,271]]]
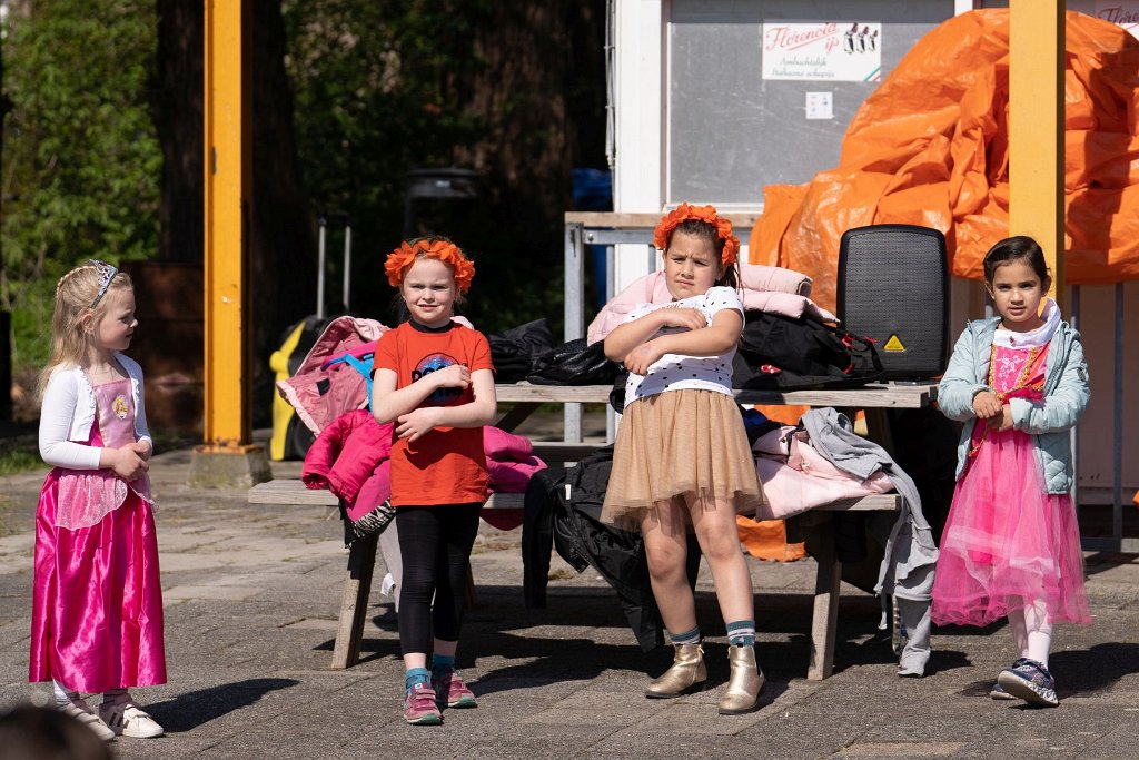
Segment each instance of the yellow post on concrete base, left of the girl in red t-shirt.
[[246,260],[253,201],[248,0],[205,2],[205,443],[252,440]]

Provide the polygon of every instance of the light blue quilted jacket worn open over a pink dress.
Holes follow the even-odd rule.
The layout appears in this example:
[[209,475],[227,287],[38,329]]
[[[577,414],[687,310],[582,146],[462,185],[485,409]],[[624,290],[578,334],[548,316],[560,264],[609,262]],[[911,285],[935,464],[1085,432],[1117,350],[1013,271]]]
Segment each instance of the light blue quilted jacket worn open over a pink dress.
[[[945,376],[937,386],[937,404],[950,419],[964,422],[957,447],[957,479],[965,472],[965,459],[977,415],[973,397],[991,390],[989,359],[999,317],[969,322],[957,340]],[[1013,427],[1035,436],[1036,463],[1049,493],[1072,490],[1072,444],[1068,431],[1083,416],[1091,398],[1088,365],[1083,359],[1080,333],[1062,321],[1048,348],[1044,361],[1044,398],[1040,401],[1009,399]]]

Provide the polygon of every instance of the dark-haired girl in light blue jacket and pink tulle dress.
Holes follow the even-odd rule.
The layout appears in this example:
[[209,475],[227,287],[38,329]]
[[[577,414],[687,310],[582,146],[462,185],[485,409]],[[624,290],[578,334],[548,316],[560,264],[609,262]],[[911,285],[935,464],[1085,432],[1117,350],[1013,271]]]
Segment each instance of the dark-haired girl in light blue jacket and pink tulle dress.
[[1046,296],[1051,278],[1035,240],[1001,240],[984,272],[1000,317],[968,325],[937,392],[942,411],[966,424],[933,620],[1008,618],[1019,656],[990,695],[1052,706],[1052,624],[1091,622],[1068,439],[1088,406],[1088,366],[1079,333]]

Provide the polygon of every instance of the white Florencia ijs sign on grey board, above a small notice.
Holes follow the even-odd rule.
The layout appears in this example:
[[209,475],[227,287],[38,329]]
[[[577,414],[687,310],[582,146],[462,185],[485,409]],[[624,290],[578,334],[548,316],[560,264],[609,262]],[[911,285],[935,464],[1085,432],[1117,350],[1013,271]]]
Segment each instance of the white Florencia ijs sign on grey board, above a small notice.
[[763,22],[760,34],[763,79],[882,81],[882,24]]

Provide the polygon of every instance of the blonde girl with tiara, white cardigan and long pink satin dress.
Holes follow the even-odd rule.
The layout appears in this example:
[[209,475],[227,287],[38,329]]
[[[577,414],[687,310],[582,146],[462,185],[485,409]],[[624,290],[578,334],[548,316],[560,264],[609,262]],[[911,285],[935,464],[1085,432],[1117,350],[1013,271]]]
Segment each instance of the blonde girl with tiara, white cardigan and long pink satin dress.
[[[166,683],[162,586],[142,370],[120,353],[138,320],[130,278],[76,267],[56,286],[40,379],[40,455],[28,680],[103,738],[159,736],[126,688]],[[80,692],[103,693],[98,712]]]

